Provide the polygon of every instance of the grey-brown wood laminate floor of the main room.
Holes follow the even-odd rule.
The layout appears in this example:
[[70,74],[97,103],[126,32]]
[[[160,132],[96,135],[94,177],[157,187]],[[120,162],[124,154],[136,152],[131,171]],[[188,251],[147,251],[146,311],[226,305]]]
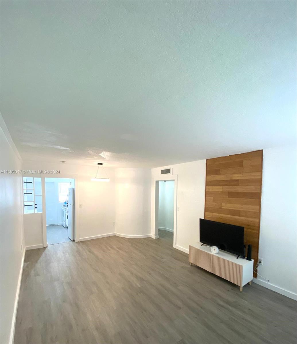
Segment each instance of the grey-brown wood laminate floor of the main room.
[[14,343],[296,343],[296,301],[240,292],[159,235],[27,251]]

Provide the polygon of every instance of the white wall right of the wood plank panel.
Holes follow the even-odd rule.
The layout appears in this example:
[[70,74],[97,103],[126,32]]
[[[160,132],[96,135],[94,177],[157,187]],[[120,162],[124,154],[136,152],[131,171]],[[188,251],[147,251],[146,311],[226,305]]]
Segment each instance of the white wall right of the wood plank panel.
[[[263,150],[257,282],[297,300],[296,147]],[[269,285],[268,285],[269,284]],[[290,295],[291,294],[291,295]]]

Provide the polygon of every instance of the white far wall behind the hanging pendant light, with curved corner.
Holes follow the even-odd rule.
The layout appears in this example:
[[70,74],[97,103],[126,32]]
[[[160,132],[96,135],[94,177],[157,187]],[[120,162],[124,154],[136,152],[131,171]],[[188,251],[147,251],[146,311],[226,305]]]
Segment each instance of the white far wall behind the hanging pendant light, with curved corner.
[[[95,164],[93,167],[25,161],[23,169],[60,170],[60,174],[34,174],[34,176],[77,179],[76,194],[78,204],[81,205],[79,216],[76,216],[78,240],[113,233],[127,236],[150,235],[150,169],[105,168],[110,178],[108,183],[91,181],[97,170]],[[25,221],[26,246],[42,244],[42,226],[38,230],[38,223],[37,218],[34,218],[31,225],[30,222]]]

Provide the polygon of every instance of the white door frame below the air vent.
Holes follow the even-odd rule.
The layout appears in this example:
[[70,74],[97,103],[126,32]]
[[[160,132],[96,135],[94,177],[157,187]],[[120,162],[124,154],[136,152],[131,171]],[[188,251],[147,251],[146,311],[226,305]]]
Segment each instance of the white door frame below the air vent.
[[176,217],[177,217],[177,174],[165,174],[153,178],[152,206],[151,206],[151,237],[159,237],[159,182],[163,180],[174,181],[174,206],[173,206],[173,247],[176,248]]

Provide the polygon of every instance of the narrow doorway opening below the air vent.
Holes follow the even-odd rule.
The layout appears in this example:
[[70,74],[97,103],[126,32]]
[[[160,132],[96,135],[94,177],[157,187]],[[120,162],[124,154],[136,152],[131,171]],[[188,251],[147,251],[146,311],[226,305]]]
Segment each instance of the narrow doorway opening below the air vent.
[[160,180],[158,194],[158,235],[173,244],[174,180]]

